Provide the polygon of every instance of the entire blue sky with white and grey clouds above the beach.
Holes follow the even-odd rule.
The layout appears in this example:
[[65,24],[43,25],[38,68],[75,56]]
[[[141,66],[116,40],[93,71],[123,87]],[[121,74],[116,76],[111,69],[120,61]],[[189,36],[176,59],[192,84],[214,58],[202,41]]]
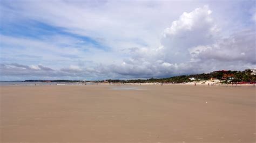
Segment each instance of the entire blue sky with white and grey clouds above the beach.
[[255,1],[0,1],[0,80],[256,68]]

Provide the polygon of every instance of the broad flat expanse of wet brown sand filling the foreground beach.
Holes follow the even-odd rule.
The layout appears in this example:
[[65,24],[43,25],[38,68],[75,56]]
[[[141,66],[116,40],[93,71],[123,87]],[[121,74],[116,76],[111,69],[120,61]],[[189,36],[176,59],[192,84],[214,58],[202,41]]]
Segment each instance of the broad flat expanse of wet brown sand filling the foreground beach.
[[256,141],[256,88],[122,88],[0,87],[0,142]]

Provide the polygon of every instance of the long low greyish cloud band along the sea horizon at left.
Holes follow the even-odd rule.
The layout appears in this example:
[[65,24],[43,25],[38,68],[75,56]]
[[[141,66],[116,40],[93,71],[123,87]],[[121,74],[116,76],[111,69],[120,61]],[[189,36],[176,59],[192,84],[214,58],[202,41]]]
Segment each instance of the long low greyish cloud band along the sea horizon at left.
[[[60,69],[53,69],[43,65],[21,65],[18,63],[1,63],[0,80],[6,80],[8,77],[19,77],[18,79],[76,79],[76,80],[101,80],[103,78],[114,77],[113,73],[106,72],[109,67],[81,67],[70,65]],[[17,78],[16,78],[17,79]]]

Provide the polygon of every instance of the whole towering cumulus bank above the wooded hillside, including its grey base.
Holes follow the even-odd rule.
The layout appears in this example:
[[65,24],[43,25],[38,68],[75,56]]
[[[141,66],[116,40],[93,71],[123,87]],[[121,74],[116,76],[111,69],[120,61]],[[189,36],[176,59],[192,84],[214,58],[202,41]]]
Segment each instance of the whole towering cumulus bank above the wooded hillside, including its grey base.
[[211,13],[208,6],[184,12],[164,30],[160,47],[130,48],[130,58],[109,66],[111,71],[134,77],[166,77],[255,66],[255,30],[221,37]]

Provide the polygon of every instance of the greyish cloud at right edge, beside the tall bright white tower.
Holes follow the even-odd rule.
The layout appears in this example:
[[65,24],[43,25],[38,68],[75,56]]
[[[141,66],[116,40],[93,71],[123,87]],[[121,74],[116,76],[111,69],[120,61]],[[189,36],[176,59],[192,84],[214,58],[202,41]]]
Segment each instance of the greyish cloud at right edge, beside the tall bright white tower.
[[240,31],[213,45],[197,46],[189,51],[192,60],[242,61],[255,65],[255,30]]

